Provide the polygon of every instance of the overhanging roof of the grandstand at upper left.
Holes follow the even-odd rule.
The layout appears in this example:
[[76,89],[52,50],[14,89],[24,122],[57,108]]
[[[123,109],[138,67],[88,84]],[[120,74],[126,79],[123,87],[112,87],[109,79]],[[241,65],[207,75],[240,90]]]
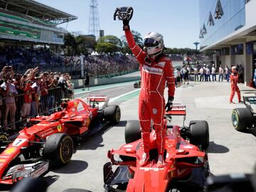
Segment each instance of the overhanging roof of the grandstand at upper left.
[[0,0],[0,8],[40,18],[56,25],[78,18],[33,0]]

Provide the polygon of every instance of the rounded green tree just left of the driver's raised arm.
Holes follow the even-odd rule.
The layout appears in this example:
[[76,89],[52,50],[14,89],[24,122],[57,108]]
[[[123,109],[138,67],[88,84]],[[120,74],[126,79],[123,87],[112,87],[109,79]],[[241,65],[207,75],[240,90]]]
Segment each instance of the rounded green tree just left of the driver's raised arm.
[[98,40],[96,45],[96,51],[100,53],[115,53],[121,48],[122,43],[116,36],[104,36]]

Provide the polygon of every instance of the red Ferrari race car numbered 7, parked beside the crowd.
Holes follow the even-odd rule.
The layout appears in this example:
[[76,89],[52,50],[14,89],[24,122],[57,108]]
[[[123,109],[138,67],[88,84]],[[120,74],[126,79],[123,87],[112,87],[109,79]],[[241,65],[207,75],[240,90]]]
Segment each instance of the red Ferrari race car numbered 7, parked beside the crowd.
[[68,164],[73,155],[71,137],[80,139],[107,124],[119,123],[119,106],[107,104],[107,97],[103,96],[65,100],[60,111],[31,119],[30,127],[25,127],[13,139],[1,135],[0,183],[38,177],[49,165]]

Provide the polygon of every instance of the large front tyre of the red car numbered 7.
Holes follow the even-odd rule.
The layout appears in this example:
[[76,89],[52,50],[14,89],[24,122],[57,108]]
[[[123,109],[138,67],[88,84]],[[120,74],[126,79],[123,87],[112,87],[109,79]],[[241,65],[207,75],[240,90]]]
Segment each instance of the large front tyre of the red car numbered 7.
[[43,156],[50,160],[51,166],[68,164],[73,155],[73,140],[68,134],[52,134],[46,140]]

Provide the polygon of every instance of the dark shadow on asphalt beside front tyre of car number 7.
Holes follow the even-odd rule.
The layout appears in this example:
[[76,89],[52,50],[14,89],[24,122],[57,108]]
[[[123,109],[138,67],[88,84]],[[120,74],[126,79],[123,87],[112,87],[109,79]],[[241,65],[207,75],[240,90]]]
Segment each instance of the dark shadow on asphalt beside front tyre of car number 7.
[[50,171],[58,174],[78,174],[87,169],[87,166],[86,161],[71,160],[67,165],[58,169],[51,169]]

